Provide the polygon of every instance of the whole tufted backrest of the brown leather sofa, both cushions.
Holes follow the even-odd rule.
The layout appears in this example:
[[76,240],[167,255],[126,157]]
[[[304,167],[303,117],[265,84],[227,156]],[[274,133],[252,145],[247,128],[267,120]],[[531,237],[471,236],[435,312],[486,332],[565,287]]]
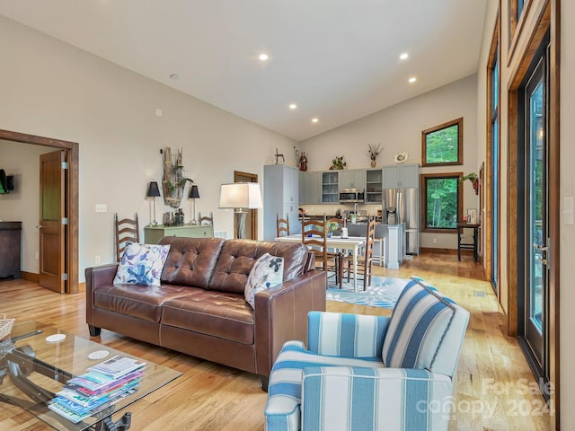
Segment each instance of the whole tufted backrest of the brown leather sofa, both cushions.
[[163,283],[241,295],[253,264],[266,252],[284,258],[284,281],[304,273],[308,263],[303,244],[174,236],[159,243],[171,244]]

